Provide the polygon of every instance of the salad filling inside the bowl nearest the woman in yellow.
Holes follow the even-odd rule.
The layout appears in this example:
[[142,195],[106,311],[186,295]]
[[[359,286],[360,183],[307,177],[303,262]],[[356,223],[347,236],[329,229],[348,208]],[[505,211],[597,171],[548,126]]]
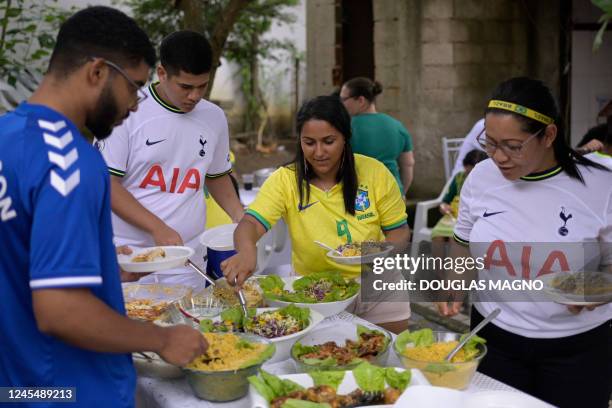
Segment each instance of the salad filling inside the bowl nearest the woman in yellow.
[[339,272],[319,272],[303,276],[293,282],[293,291],[285,290],[285,282],[276,275],[259,280],[264,297],[295,303],[337,302],[359,292],[360,285],[344,279]]

